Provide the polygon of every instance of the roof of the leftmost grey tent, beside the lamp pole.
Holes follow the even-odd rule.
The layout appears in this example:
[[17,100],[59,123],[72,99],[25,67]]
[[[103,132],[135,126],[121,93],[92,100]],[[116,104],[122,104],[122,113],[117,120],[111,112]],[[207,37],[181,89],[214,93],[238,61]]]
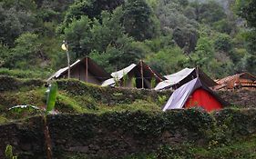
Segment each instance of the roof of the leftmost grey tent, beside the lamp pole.
[[[106,80],[110,77],[110,75],[99,65],[97,65],[91,58],[89,57],[84,57],[82,59],[78,59],[75,63],[73,63],[72,65],[70,65],[70,71],[72,71],[72,69],[82,63],[85,63],[85,61],[88,61],[88,71],[92,74],[95,75],[97,78],[100,78],[101,81],[102,80]],[[68,71],[68,66],[59,69],[54,75],[51,75],[47,81],[51,80],[51,79],[57,79],[59,77],[61,77],[61,75],[65,75],[67,74]]]

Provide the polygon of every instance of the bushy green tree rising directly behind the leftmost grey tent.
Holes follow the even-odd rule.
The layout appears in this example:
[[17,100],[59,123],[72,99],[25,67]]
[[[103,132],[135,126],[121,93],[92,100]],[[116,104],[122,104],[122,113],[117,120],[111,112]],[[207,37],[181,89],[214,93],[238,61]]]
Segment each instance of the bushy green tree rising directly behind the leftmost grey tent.
[[82,16],[65,29],[65,37],[70,50],[78,56],[88,55],[91,51],[105,52],[108,45],[115,44],[118,37],[124,35],[124,29],[120,25],[122,9],[118,7],[113,14],[102,12],[99,20],[90,20],[88,16]]

